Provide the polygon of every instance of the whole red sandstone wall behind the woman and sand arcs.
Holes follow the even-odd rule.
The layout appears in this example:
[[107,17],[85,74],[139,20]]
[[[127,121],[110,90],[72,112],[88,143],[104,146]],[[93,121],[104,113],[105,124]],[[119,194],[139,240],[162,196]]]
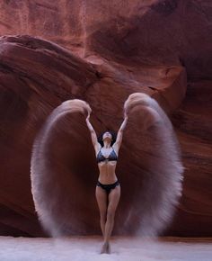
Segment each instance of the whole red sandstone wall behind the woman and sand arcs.
[[[30,34],[43,39],[23,35],[0,40],[1,234],[43,235],[31,198],[31,145],[53,108],[67,99],[84,99],[92,106],[98,133],[118,130],[123,103],[134,92],[151,94],[172,115],[187,167],[181,205],[166,233],[212,233],[212,5],[200,0],[113,2],[1,2],[2,36]],[[75,211],[83,216],[75,232],[94,234],[100,233],[93,193],[98,171],[82,117],[79,131],[88,140],[84,157],[89,173],[82,168],[80,180],[90,185],[84,186],[84,194],[76,189],[75,199],[91,197],[81,208],[75,202]],[[71,138],[66,131],[54,146],[68,172]],[[119,223],[133,190],[128,187],[127,161],[126,144],[117,168],[126,193],[122,193],[114,233],[121,233]],[[57,167],[62,171],[62,166]],[[128,228],[132,231],[133,224]]]

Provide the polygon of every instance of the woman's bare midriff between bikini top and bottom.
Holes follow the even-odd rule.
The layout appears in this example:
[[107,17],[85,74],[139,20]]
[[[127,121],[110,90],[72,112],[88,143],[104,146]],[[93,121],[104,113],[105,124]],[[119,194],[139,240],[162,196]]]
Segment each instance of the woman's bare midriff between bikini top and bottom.
[[98,164],[100,175],[99,182],[102,184],[113,184],[117,181],[117,176],[115,173],[116,161],[102,161]]

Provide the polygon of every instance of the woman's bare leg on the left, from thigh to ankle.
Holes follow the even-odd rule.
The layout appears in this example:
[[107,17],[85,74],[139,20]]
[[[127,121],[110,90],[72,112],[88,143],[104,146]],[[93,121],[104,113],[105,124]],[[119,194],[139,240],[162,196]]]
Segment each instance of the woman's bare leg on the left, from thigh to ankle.
[[102,229],[102,235],[104,237],[105,222],[107,217],[107,193],[100,186],[96,186],[96,200],[100,209],[100,225]]

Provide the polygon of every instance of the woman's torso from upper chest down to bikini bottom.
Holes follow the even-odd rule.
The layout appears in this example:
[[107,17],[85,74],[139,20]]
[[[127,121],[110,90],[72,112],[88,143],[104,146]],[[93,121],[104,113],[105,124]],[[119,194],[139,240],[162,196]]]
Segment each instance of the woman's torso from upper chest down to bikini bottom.
[[[106,159],[104,161],[102,160],[101,162],[98,162],[98,167],[100,170],[100,175],[99,175],[98,180],[102,184],[113,184],[117,181],[117,176],[115,173],[117,160],[111,160],[111,159],[113,159],[114,156],[118,157],[118,153],[112,147],[100,148],[96,153],[96,157],[98,156],[99,153],[102,153],[101,156],[103,156],[103,157],[106,157],[106,158],[110,157],[110,160]],[[111,156],[113,156],[113,157],[111,157]],[[115,157],[114,157],[114,159],[115,159]]]

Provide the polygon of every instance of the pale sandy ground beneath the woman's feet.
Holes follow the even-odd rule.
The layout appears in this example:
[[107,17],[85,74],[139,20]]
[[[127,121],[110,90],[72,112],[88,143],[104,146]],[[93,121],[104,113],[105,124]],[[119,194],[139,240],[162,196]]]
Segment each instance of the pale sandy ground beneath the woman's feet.
[[111,238],[111,254],[99,254],[101,237],[0,237],[0,260],[212,261],[212,238]]

